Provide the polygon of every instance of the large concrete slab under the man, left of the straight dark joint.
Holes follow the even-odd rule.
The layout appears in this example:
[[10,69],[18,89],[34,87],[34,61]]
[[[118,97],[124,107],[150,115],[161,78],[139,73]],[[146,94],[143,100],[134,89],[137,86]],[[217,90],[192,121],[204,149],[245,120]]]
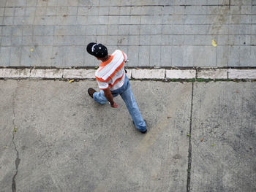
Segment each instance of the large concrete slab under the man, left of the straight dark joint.
[[97,82],[0,83],[1,108],[10,110],[1,110],[1,130],[12,136],[15,116],[18,150],[16,157],[12,138],[1,137],[1,191],[11,191],[16,158],[17,191],[186,191],[190,83],[132,82],[146,135],[120,98],[118,109],[89,98]]

